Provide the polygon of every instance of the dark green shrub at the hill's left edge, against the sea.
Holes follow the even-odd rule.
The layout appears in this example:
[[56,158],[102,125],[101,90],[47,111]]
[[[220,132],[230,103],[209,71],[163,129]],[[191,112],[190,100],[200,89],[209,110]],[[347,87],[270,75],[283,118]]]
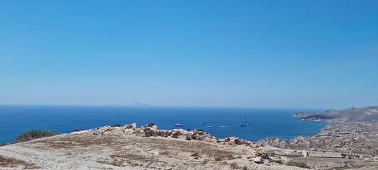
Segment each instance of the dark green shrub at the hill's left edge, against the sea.
[[35,140],[42,137],[51,137],[51,136],[55,136],[59,134],[60,133],[58,132],[50,132],[50,131],[43,131],[43,130],[28,130],[16,136],[15,140],[13,140],[12,143],[26,142],[29,140]]

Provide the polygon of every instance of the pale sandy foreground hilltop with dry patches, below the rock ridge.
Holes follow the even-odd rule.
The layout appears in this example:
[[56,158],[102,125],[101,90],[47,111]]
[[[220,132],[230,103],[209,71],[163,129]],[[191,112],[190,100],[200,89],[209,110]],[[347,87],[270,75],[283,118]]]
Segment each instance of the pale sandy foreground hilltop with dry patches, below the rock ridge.
[[57,135],[0,147],[0,169],[300,169],[248,159],[250,147],[130,135]]

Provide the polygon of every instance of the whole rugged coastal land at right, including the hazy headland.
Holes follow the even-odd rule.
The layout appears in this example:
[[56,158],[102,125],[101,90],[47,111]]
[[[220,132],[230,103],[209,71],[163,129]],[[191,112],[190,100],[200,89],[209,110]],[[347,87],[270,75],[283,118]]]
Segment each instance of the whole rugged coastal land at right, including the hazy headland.
[[[378,169],[378,106],[330,109],[323,114],[294,113],[293,117],[325,121],[318,135],[257,142],[268,154],[302,160],[315,169]],[[306,157],[303,157],[306,156]]]

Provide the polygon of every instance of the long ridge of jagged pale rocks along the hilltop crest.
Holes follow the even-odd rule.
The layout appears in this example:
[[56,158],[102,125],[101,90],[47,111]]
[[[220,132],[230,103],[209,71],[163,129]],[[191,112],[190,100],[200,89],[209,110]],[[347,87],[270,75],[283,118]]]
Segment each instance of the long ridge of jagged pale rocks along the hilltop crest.
[[265,152],[262,152],[262,149],[258,147],[254,142],[248,140],[239,139],[238,137],[227,137],[225,139],[217,139],[213,135],[204,132],[204,130],[183,130],[183,129],[174,129],[174,130],[159,130],[154,123],[150,123],[145,126],[140,126],[137,128],[136,123],[131,125],[123,126],[103,126],[99,128],[94,128],[91,130],[80,130],[74,131],[72,135],[134,135],[140,137],[172,137],[182,140],[199,140],[202,142],[213,142],[220,143],[223,145],[228,145],[230,147],[235,147],[237,145],[245,145],[252,148],[252,155],[249,157],[251,161],[261,164],[264,162],[264,159],[268,158],[268,155]]

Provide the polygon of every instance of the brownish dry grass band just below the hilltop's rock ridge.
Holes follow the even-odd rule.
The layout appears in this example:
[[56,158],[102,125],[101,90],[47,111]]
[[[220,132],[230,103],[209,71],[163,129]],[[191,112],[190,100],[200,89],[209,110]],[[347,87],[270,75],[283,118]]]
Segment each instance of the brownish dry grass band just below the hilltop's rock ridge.
[[[225,149],[218,149],[214,145],[206,144],[203,142],[191,142],[188,145],[185,140],[166,140],[159,139],[155,137],[144,138],[144,142],[148,143],[148,147],[160,150],[160,154],[172,150],[174,152],[184,153],[187,152],[191,155],[202,155],[203,157],[220,157],[221,159],[235,159],[233,157],[234,153]],[[143,143],[140,143],[140,139],[136,137],[128,137],[127,140],[122,140],[117,135],[83,135],[82,137],[76,137],[74,135],[62,137],[60,140],[56,139],[46,139],[42,141],[31,141],[30,144],[41,144],[44,146],[52,147],[55,149],[74,149],[74,148],[91,148],[94,146],[109,149],[119,149],[125,145],[128,147],[139,147],[145,148]],[[194,152],[193,148],[196,150],[201,150],[201,153]],[[163,154],[174,154],[174,153],[163,153]]]

